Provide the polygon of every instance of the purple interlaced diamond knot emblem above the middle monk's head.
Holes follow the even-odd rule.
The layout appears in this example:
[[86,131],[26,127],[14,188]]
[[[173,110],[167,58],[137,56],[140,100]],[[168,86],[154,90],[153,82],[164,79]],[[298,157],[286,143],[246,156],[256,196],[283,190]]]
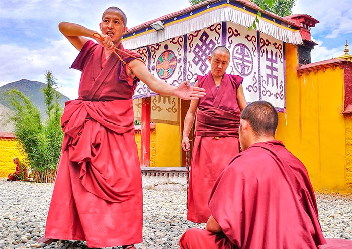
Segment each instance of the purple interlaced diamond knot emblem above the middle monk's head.
[[207,32],[203,32],[199,37],[199,43],[193,49],[194,57],[192,62],[198,67],[202,74],[208,69],[208,57],[216,46],[216,43],[209,38]]

